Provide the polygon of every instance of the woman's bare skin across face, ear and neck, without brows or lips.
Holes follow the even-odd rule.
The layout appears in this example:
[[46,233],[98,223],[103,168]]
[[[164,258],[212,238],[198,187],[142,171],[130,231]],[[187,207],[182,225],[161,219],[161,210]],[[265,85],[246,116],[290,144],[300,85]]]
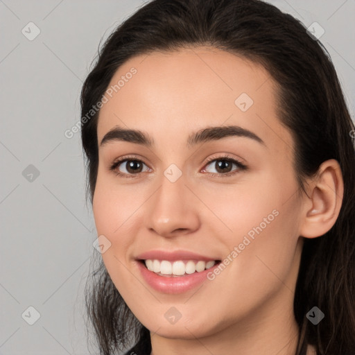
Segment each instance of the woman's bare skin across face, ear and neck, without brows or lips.
[[[308,196],[300,192],[293,139],[277,118],[276,85],[258,64],[208,47],[153,52],[125,62],[112,85],[131,67],[135,76],[101,108],[98,142],[122,125],[147,132],[155,146],[111,141],[99,147],[93,210],[98,235],[111,243],[103,253],[107,271],[150,330],[151,354],[295,354],[293,297],[302,245],[304,237],[322,236],[338,217],[338,163],[324,162],[319,177],[306,182]],[[245,112],[234,104],[243,92],[254,101]],[[187,148],[191,132],[214,125],[240,125],[265,145],[227,137]],[[248,170],[213,175],[216,161],[207,165],[206,159],[226,153]],[[144,162],[138,178],[110,171],[124,155]],[[176,182],[164,176],[171,164],[182,172]],[[126,168],[123,162],[119,170],[128,173]],[[274,209],[279,215],[200,288],[164,294],[141,277],[137,254],[183,249],[223,260]],[[172,306],[181,313],[175,324],[164,318]]]

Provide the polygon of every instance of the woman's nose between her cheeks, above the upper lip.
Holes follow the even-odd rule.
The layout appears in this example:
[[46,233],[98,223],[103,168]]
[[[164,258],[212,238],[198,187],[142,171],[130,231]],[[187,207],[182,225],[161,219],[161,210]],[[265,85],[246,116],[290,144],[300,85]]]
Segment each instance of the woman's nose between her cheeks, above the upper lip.
[[164,237],[190,234],[200,227],[200,201],[187,187],[184,175],[171,182],[164,175],[147,201],[146,227]]

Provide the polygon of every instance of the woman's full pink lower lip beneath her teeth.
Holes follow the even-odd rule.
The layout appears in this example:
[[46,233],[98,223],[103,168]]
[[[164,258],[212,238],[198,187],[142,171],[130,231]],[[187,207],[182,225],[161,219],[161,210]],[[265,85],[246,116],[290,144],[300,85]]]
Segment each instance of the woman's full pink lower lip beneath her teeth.
[[157,275],[155,272],[148,270],[144,263],[137,261],[138,268],[141,275],[146,280],[146,283],[155,288],[155,290],[162,293],[184,293],[186,291],[192,290],[199,284],[202,284],[207,279],[208,272],[214,270],[218,267],[220,263],[216,263],[211,268],[201,271],[193,272],[193,274],[185,274],[180,277],[165,277]]

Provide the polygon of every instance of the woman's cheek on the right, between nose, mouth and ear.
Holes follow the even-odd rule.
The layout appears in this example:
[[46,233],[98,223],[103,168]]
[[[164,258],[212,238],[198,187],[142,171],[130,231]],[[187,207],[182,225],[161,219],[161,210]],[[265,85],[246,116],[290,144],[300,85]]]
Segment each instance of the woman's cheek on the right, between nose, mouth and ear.
[[266,172],[256,180],[205,194],[206,205],[218,217],[213,218],[215,236],[227,245],[225,257],[238,259],[230,263],[230,271],[235,279],[244,275],[244,285],[259,276],[260,282],[268,276],[277,279],[270,270],[286,277],[299,238],[300,201],[293,175]]

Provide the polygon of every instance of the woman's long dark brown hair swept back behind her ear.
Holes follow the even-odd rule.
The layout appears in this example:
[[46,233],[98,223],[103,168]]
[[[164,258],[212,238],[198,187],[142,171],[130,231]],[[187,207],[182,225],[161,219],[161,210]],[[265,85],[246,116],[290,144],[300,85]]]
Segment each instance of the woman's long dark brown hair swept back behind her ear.
[[[294,313],[300,327],[297,352],[307,344],[318,355],[354,354],[355,349],[355,132],[329,53],[305,26],[259,0],[153,0],[126,19],[105,41],[81,92],[87,117],[112,76],[135,55],[208,45],[262,64],[279,86],[279,120],[295,140],[295,171],[300,187],[322,162],[336,159],[345,192],[334,227],[305,239]],[[98,112],[82,119],[87,162],[87,193],[94,195],[98,171]],[[150,354],[149,331],[132,314],[101,260],[88,279],[86,304],[101,354],[128,343]],[[317,306],[317,325],[306,313]]]

